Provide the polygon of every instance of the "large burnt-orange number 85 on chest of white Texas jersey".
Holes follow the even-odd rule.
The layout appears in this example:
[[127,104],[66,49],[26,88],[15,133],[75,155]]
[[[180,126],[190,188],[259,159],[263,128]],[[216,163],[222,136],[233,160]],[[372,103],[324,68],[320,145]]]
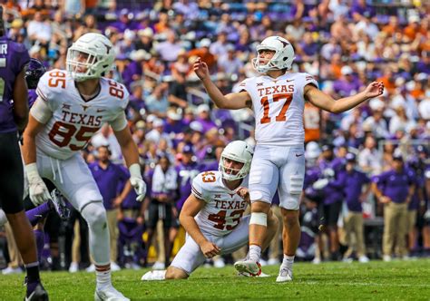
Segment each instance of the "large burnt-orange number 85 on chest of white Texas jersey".
[[[61,148],[68,145],[71,150],[82,150],[96,131],[99,131],[99,128],[86,126],[81,126],[78,131],[73,124],[56,121],[53,129],[49,132],[49,139]],[[69,144],[72,141],[73,135],[74,139],[80,143]]]

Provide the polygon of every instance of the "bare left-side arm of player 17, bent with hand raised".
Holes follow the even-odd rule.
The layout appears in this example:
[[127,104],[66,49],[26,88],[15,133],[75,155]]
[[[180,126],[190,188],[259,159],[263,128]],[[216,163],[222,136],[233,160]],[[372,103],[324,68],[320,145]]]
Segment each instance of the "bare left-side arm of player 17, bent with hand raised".
[[251,106],[251,100],[248,92],[238,92],[223,95],[220,89],[210,80],[210,73],[208,65],[201,61],[200,57],[197,58],[193,65],[194,72],[203,83],[206,92],[208,92],[210,99],[220,109],[237,110]]

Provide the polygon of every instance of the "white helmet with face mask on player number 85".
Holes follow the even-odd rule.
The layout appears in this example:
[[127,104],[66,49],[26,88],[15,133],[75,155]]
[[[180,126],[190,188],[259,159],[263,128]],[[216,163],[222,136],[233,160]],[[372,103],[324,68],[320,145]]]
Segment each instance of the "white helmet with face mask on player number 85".
[[68,49],[66,66],[73,79],[82,82],[100,78],[111,71],[114,60],[115,51],[111,41],[103,34],[90,33],[83,34]]

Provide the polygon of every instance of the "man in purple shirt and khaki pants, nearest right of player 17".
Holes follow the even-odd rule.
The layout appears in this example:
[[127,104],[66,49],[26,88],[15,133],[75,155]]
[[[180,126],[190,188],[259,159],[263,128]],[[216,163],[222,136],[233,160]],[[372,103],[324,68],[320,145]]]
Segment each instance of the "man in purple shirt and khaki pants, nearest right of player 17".
[[[356,169],[356,155],[347,153],[347,166],[343,171],[346,178],[344,188],[345,202],[347,203],[347,216],[344,219],[344,229],[347,236],[347,252],[344,254],[345,259],[349,259],[353,251],[357,252],[358,261],[366,263],[369,258],[366,257],[366,246],[363,235],[363,209],[361,203],[365,202],[370,192],[370,185],[367,185],[363,193],[363,186],[370,183],[366,173]],[[355,238],[355,239],[354,239]]]

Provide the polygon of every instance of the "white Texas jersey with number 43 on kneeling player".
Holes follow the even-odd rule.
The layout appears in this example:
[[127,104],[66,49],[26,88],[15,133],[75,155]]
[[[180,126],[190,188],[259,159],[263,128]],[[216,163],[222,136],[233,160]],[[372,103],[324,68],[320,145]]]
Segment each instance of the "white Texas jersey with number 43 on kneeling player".
[[[248,187],[248,177],[240,187]],[[205,171],[197,175],[192,180],[191,193],[207,203],[195,217],[199,228],[215,236],[227,235],[236,228],[248,206],[236,191],[224,185],[220,171]]]

